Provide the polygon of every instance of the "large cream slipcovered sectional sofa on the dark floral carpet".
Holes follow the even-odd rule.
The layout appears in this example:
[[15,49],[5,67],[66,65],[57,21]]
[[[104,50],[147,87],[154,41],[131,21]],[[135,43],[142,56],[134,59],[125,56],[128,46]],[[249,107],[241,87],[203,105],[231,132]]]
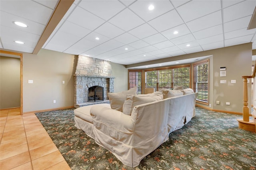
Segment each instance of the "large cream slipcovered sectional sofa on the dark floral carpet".
[[[197,93],[176,97],[163,94],[126,94],[122,111],[121,108],[112,109],[117,105],[111,103],[80,107],[74,110],[75,126],[111,151],[123,164],[136,167],[168,140],[170,132],[182,128],[195,116]],[[109,94],[109,98],[111,95],[116,94]]]

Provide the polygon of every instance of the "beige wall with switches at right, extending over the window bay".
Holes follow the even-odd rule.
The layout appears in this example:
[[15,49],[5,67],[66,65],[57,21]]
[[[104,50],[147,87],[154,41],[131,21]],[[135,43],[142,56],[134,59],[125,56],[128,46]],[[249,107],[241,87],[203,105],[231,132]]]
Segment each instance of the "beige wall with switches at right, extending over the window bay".
[[[209,57],[209,104],[212,105],[210,109],[242,113],[243,80],[241,76],[252,75],[252,43],[136,63],[127,65],[126,68],[208,55],[211,56]],[[226,67],[226,77],[220,77],[220,67]],[[220,80],[226,80],[227,83],[220,84]],[[236,83],[231,83],[231,80],[236,80]],[[248,91],[251,91],[251,85],[248,86]],[[251,93],[248,93],[248,99],[251,99]],[[220,105],[216,105],[217,100],[220,101]],[[226,105],[226,102],[230,102],[230,105]],[[248,106],[250,105],[251,100],[248,102]]]

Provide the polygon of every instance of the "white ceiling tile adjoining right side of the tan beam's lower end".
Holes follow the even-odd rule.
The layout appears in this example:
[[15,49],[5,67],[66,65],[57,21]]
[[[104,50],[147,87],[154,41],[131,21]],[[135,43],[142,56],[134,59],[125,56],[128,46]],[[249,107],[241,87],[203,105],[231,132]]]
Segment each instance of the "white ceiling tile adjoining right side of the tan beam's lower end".
[[[58,47],[58,50],[60,52],[65,51],[68,47],[70,47],[71,45],[73,45],[74,43],[78,42],[80,40],[80,37],[71,35],[71,34],[67,34],[65,32],[62,31],[58,31],[56,32],[56,34],[54,35],[54,37],[50,40],[50,42],[46,45],[46,49],[50,49],[50,44],[54,44],[54,45],[60,45],[62,48]],[[61,50],[60,50],[61,49]]]

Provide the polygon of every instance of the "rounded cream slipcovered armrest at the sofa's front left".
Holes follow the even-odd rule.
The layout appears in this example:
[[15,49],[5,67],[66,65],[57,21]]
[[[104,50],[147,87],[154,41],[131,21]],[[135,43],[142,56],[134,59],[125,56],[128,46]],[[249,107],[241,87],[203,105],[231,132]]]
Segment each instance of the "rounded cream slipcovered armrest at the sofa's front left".
[[[102,106],[93,106],[90,109],[90,115],[92,116],[94,126],[96,128],[107,126],[108,129],[117,130],[122,133],[133,133],[134,122],[130,115]],[[103,129],[101,129],[103,130]]]

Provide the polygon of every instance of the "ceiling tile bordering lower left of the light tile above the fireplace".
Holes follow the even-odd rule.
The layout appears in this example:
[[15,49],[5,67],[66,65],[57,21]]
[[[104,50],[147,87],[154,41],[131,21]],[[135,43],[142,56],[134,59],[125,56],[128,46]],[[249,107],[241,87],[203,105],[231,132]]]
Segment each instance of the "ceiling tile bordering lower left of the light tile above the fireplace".
[[65,53],[72,53],[74,55],[79,55],[83,53],[84,51],[87,51],[95,46],[99,45],[96,41],[89,41],[83,38],[82,40],[78,41],[68,49],[66,49]]

